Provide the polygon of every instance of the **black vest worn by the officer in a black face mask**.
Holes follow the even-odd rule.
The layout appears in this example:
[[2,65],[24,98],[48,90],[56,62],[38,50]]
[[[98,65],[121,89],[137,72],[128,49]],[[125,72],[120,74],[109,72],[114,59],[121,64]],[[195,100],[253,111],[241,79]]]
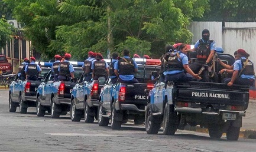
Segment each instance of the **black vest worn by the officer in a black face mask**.
[[210,44],[213,40],[209,39],[207,42],[203,42],[203,39],[199,40],[196,58],[199,60],[207,60],[210,55]]

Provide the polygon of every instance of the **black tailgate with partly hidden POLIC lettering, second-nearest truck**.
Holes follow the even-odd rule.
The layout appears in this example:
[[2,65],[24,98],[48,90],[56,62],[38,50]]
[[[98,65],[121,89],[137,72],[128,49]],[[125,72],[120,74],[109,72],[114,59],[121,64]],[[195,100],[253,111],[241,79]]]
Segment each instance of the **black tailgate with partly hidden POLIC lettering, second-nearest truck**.
[[[129,104],[147,104],[147,94],[149,84],[125,84],[125,103]],[[151,85],[152,86],[152,85]],[[147,90],[145,92],[145,90]]]

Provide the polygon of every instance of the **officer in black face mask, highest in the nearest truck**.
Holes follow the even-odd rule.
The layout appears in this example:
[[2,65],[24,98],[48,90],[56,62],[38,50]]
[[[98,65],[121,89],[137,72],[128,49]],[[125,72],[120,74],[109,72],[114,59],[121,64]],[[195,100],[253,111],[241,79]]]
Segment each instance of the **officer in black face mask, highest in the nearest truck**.
[[202,72],[202,80],[205,82],[210,82],[209,78],[209,66],[212,64],[213,56],[215,55],[215,41],[210,38],[210,32],[208,29],[203,29],[202,31],[202,39],[199,39],[195,48],[190,49],[192,51],[196,51],[196,60],[190,64],[190,68],[193,72],[198,73],[202,67],[205,70]]

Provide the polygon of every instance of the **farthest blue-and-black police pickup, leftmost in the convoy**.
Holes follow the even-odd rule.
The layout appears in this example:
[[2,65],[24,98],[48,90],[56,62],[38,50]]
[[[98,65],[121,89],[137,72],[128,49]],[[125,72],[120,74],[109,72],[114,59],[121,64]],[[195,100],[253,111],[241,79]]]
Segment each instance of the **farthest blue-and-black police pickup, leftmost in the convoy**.
[[[36,62],[38,64],[38,62]],[[41,62],[42,71],[49,71],[51,62]],[[36,92],[38,86],[43,81],[43,77],[39,76],[37,80],[19,80],[18,77],[9,85],[9,112],[15,112],[20,107],[20,113],[27,113],[28,107],[35,107]]]

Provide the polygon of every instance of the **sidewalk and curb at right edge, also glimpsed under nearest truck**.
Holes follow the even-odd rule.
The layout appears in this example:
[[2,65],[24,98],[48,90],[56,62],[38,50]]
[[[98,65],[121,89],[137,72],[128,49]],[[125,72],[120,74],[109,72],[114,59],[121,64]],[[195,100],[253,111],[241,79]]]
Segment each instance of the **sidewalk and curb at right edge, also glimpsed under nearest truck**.
[[[208,133],[208,129],[200,128],[199,126],[186,126],[185,130]],[[239,137],[256,139],[256,100],[249,100],[246,115],[242,118],[242,128]]]

